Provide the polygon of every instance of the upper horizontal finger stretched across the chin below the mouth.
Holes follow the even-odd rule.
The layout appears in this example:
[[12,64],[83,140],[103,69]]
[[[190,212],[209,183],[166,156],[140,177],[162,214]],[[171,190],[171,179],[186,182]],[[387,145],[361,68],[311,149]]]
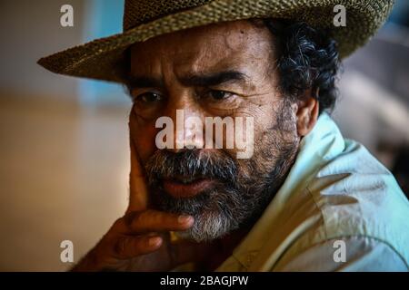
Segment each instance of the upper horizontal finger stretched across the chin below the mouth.
[[195,218],[187,215],[177,215],[148,209],[145,211],[134,211],[124,217],[125,227],[130,233],[180,231],[192,227]]

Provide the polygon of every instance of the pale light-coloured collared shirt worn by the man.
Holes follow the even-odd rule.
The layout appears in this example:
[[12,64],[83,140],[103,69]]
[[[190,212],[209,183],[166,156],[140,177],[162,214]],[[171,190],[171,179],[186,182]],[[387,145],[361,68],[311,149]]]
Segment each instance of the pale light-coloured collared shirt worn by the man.
[[284,185],[217,271],[408,271],[409,202],[323,113]]

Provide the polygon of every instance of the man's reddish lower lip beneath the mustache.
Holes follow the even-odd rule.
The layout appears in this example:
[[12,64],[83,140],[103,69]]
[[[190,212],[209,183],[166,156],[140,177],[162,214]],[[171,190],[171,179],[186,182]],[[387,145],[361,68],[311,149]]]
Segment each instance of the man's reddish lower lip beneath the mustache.
[[175,179],[164,179],[163,186],[165,191],[174,198],[192,198],[214,186],[212,179],[196,179],[193,182],[182,183]]

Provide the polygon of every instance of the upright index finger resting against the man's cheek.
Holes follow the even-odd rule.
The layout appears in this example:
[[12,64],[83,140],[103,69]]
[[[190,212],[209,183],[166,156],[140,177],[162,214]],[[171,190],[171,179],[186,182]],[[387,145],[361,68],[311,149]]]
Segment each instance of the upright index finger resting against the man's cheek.
[[129,174],[129,205],[126,212],[139,211],[147,208],[147,187],[145,182],[145,170],[135,149],[135,143],[130,138],[131,143],[131,172]]

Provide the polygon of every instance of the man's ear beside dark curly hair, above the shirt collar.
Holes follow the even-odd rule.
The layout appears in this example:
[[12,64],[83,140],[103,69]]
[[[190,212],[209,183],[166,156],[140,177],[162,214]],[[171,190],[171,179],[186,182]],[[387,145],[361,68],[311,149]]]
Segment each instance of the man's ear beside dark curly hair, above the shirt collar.
[[[318,95],[319,89],[316,90]],[[304,96],[297,102],[297,133],[303,137],[313,130],[318,119],[319,102],[312,96],[312,90],[307,90]]]

